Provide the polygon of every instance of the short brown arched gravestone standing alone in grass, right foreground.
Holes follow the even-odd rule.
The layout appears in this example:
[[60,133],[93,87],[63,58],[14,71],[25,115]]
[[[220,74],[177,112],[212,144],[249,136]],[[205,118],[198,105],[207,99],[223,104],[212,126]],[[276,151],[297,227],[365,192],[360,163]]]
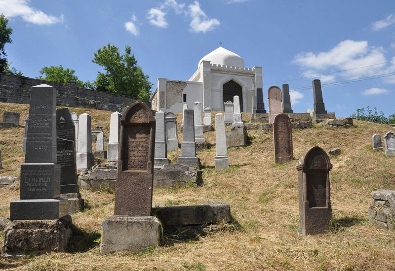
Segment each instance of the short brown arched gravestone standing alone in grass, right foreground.
[[299,231],[303,235],[328,232],[332,219],[329,156],[316,146],[306,151],[296,167],[299,171]]

